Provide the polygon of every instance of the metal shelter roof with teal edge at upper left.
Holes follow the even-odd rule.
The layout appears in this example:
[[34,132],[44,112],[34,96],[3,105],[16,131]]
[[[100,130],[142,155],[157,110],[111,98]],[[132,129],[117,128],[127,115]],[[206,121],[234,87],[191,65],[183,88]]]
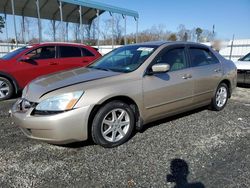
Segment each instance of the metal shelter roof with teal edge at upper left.
[[[84,24],[90,24],[99,14],[105,11],[119,13],[127,16],[139,17],[138,12],[110,6],[91,0],[59,0],[63,7],[63,21],[79,23],[79,6],[82,6],[82,20]],[[39,0],[41,19],[60,21],[58,0]],[[37,17],[36,0],[15,0],[15,15]],[[0,0],[0,13],[12,14],[11,1]]]

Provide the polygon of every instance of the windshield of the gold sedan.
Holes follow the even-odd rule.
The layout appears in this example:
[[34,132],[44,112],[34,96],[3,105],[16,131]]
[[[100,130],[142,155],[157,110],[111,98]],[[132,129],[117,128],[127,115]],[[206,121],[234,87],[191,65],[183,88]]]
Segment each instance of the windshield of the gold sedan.
[[117,48],[88,67],[115,72],[132,72],[136,70],[156,48],[157,46],[153,45],[134,45]]

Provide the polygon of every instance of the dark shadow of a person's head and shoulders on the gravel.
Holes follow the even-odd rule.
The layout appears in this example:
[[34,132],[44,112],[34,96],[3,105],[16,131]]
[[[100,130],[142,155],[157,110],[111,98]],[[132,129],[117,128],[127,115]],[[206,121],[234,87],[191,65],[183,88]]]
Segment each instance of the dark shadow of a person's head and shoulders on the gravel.
[[170,173],[166,180],[169,183],[175,183],[174,188],[205,188],[201,182],[189,183],[187,180],[189,167],[185,160],[175,158],[170,163]]

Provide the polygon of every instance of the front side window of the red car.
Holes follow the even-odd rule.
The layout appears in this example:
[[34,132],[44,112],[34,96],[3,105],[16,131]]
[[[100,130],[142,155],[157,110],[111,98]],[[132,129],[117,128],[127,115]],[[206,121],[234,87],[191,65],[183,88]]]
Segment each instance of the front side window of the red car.
[[55,58],[55,46],[44,46],[41,48],[37,48],[28,54],[27,56],[30,59],[51,59]]

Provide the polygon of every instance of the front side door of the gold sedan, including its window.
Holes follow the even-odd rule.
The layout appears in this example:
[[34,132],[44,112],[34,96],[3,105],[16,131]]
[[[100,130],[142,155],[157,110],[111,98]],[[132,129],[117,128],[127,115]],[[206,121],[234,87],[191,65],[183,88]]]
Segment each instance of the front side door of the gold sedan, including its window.
[[163,49],[152,65],[156,63],[167,63],[170,70],[143,78],[144,107],[150,119],[191,105],[194,88],[192,69],[189,68],[184,45]]

